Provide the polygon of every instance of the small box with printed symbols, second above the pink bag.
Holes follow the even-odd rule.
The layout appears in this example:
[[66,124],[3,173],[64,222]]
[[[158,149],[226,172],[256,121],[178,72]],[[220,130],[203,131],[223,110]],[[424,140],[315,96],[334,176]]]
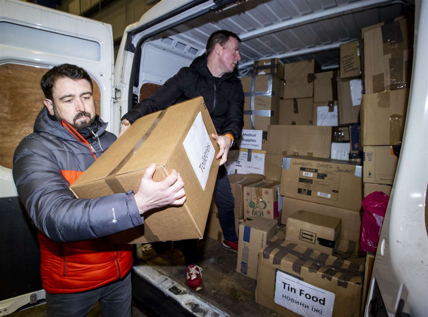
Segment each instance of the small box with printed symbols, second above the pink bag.
[[392,185],[398,164],[392,147],[366,146],[363,151],[363,182]]

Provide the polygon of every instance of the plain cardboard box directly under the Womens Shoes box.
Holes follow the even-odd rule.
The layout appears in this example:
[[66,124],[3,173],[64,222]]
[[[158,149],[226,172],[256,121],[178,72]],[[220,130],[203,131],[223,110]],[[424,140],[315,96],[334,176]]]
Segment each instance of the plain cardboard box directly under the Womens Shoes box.
[[306,210],[310,212],[327,215],[342,219],[342,229],[340,230],[340,238],[352,241],[360,241],[361,232],[361,215],[360,212],[337,208],[333,206],[326,206],[320,203],[311,203],[309,201],[284,197],[282,204],[281,223],[286,224],[290,215],[299,210]]

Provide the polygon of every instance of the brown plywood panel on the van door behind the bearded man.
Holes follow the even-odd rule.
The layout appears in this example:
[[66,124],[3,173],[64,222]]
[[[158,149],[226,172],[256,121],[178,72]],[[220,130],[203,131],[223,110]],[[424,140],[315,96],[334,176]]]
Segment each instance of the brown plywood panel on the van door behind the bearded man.
[[[0,65],[0,165],[12,168],[15,148],[33,132],[34,120],[44,107],[40,80],[48,69],[18,64]],[[95,111],[100,113],[101,93],[94,86]]]

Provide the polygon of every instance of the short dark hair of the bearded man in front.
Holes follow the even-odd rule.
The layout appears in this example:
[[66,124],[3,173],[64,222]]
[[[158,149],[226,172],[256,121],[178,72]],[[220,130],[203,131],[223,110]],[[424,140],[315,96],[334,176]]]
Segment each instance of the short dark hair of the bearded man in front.
[[45,75],[43,75],[42,80],[40,81],[40,86],[42,87],[45,98],[52,99],[52,90],[55,88],[55,81],[58,78],[71,78],[74,80],[86,79],[91,85],[91,90],[93,90],[91,76],[83,68],[71,65],[71,64],[61,64],[58,66],[49,69]]

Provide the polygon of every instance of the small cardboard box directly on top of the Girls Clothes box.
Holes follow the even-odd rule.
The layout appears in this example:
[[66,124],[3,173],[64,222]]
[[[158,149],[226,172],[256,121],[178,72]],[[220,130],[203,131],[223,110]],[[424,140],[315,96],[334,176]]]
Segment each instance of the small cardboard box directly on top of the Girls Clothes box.
[[314,102],[337,100],[337,71],[315,74]]

